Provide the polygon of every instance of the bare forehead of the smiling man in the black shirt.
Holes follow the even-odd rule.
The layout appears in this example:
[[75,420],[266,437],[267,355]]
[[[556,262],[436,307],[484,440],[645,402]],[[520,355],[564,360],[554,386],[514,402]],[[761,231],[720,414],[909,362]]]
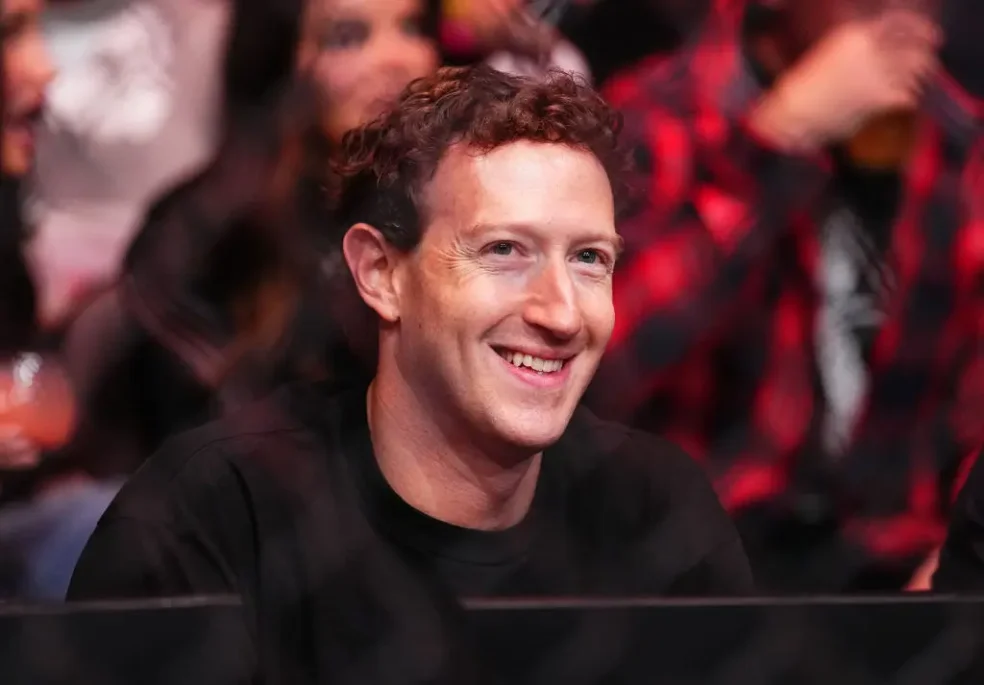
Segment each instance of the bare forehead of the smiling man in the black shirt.
[[520,141],[488,153],[453,147],[424,191],[431,223],[590,228],[615,234],[611,183],[590,152]]

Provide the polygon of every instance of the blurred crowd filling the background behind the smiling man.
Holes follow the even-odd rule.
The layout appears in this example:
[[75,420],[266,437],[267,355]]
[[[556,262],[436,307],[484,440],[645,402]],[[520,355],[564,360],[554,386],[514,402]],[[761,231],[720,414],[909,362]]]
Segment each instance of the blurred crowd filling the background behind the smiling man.
[[0,2],[0,597],[171,436],[371,376],[333,151],[480,61],[623,117],[584,403],[706,468],[761,590],[928,589],[984,441],[975,0]]

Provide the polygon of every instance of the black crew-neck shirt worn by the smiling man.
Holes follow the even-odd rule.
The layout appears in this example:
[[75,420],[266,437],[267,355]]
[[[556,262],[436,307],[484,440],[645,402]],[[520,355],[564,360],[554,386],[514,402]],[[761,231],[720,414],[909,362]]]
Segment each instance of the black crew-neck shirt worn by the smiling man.
[[295,684],[443,681],[460,650],[421,645],[451,644],[458,598],[750,590],[707,478],[666,442],[579,409],[523,521],[469,530],[389,487],[365,398],[294,388],[173,440],[99,523],[69,598],[241,594],[264,682]]

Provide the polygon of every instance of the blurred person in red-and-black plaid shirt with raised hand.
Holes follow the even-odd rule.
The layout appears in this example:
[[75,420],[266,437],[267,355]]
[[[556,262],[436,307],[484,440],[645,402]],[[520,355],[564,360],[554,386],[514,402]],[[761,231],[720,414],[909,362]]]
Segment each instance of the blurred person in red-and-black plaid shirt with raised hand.
[[646,192],[589,397],[707,463],[774,590],[900,588],[979,439],[984,110],[907,6],[718,0],[608,90]]

